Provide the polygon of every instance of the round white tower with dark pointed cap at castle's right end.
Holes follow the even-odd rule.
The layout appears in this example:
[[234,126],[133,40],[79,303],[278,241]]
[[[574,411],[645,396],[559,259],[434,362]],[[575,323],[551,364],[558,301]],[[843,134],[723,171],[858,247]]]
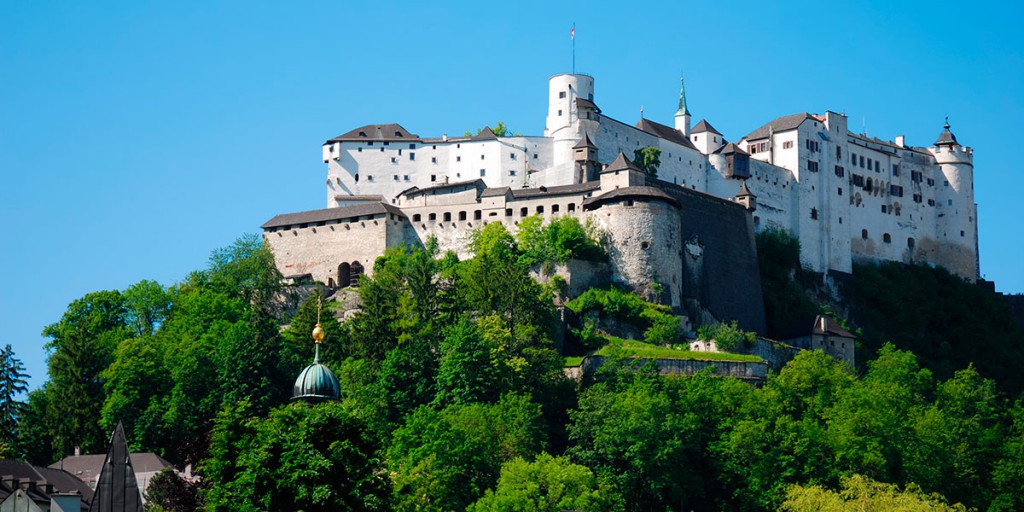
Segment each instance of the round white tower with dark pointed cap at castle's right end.
[[966,278],[979,275],[978,210],[974,202],[974,150],[956,141],[946,121],[939,139],[930,147],[935,162],[936,240],[942,247],[937,260]]

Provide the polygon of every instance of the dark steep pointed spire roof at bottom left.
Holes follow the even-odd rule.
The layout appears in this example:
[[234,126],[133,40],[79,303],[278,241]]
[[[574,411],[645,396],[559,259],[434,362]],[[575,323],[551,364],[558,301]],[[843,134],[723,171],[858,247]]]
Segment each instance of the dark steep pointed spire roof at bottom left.
[[135,480],[125,429],[120,421],[111,434],[111,449],[99,472],[89,512],[142,512],[142,494]]

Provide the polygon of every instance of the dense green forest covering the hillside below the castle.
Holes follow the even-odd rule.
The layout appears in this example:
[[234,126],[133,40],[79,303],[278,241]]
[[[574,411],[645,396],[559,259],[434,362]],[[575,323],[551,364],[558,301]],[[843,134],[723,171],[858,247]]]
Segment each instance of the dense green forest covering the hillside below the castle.
[[171,287],[87,294],[44,331],[49,380],[26,403],[11,407],[24,380],[0,353],[12,382],[0,456],[102,453],[122,421],[133,451],[202,476],[159,475],[152,510],[1024,509],[1012,371],[1024,338],[995,297],[942,269],[882,265],[858,267],[829,303],[804,286],[799,245],[768,232],[769,329],[837,314],[860,336],[858,368],[806,351],[753,386],[660,376],[611,350],[577,382],[557,345],[562,305],[589,315],[567,330],[588,349],[614,341],[602,316],[682,341],[672,311],[643,297],[570,298],[531,278],[600,258],[591,234],[571,219],[515,236],[490,223],[469,259],[389,251],[349,292],[357,310],[319,314],[336,402],[289,398],[318,309],[337,302],[284,286],[257,237]]

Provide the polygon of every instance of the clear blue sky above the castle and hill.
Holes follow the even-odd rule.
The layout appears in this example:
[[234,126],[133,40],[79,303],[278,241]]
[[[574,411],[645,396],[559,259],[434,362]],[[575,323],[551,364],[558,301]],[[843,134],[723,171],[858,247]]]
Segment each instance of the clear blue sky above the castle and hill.
[[[101,4],[101,5],[100,5]],[[547,80],[604,114],[736,140],[778,116],[976,148],[981,271],[1024,292],[1024,2],[0,0],[0,344],[32,386],[72,300],[171,285],[278,213],[325,206],[321,144],[370,123],[544,131]]]

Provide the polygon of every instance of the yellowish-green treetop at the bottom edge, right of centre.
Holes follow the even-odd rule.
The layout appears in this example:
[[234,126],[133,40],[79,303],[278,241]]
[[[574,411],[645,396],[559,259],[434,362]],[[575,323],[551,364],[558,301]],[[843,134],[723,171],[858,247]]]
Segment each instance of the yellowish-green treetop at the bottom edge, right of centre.
[[842,479],[839,492],[820,485],[794,485],[779,508],[783,512],[966,512],[961,504],[949,505],[937,494],[926,494],[910,483],[904,489],[898,485],[874,481],[863,475]]

